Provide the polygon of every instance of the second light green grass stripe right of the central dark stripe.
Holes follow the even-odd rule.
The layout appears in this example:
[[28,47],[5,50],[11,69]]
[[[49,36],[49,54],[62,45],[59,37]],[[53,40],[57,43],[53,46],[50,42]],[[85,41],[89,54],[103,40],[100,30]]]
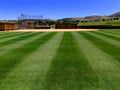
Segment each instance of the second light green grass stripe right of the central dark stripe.
[[105,36],[102,36],[102,35],[93,33],[93,32],[85,32],[85,33],[87,33],[87,34],[89,34],[89,35],[92,35],[92,36],[94,36],[94,37],[96,37],[96,38],[99,38],[99,39],[101,39],[101,40],[103,40],[103,41],[105,41],[105,42],[107,42],[107,43],[113,44],[113,45],[115,45],[115,46],[117,46],[117,47],[120,47],[120,42],[117,41],[117,40],[110,39],[110,38],[107,38],[107,37],[105,37]]

